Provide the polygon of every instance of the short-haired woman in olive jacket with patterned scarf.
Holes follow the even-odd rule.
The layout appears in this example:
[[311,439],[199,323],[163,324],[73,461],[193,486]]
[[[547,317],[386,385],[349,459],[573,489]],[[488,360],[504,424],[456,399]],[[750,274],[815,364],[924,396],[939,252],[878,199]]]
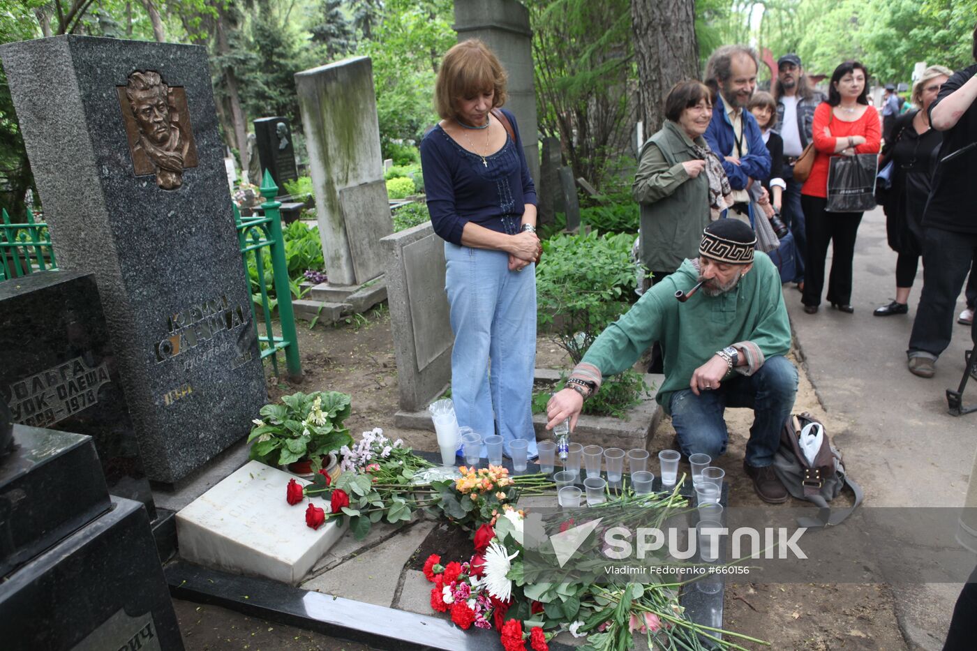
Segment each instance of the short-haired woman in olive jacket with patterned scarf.
[[726,207],[729,181],[702,138],[712,118],[709,89],[680,81],[665,99],[665,123],[642,147],[631,190],[641,204],[641,263],[654,281],[699,254],[702,229]]

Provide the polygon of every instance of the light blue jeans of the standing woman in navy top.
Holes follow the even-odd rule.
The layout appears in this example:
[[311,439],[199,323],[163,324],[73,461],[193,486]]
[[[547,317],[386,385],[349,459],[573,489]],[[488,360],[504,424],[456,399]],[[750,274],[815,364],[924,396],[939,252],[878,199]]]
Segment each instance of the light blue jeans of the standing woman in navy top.
[[[509,271],[509,255],[445,242],[445,291],[451,309],[451,400],[458,424],[502,436],[502,449],[529,442],[536,361],[535,265]],[[482,456],[487,456],[485,445]]]

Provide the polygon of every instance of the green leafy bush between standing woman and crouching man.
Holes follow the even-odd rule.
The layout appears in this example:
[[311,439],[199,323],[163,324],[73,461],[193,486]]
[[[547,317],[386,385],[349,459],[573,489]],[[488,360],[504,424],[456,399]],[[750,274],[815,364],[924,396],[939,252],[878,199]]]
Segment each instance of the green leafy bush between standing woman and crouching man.
[[604,328],[627,311],[637,284],[627,234],[561,235],[543,242],[536,268],[540,326],[553,325],[557,344],[577,364]]

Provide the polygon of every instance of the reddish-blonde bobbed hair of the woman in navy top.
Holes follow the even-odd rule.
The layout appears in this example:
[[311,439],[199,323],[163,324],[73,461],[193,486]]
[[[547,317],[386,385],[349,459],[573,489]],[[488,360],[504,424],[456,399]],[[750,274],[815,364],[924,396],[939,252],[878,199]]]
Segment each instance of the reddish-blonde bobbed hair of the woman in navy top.
[[505,104],[505,68],[486,44],[477,38],[458,43],[447,51],[435,82],[435,109],[444,119],[458,114],[458,100],[494,92],[492,109]]

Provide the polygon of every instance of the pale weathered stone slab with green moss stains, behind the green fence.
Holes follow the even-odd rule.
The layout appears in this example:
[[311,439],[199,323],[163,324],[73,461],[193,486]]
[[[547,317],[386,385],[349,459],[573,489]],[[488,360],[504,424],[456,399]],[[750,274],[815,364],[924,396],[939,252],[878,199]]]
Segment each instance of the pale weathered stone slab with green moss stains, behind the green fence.
[[295,90],[329,283],[362,284],[384,272],[380,239],[394,232],[373,65],[356,57],[298,72]]

